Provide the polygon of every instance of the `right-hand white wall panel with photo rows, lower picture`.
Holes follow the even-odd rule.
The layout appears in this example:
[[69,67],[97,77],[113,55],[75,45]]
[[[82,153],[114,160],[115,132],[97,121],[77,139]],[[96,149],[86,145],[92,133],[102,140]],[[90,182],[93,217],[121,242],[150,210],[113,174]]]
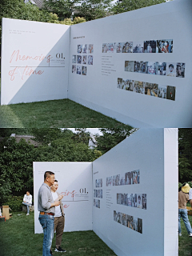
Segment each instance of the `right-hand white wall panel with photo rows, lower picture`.
[[[129,173],[138,173],[136,182]],[[93,190],[98,179],[93,230],[116,254],[178,255],[177,129],[138,130],[93,162]]]

